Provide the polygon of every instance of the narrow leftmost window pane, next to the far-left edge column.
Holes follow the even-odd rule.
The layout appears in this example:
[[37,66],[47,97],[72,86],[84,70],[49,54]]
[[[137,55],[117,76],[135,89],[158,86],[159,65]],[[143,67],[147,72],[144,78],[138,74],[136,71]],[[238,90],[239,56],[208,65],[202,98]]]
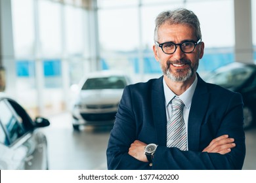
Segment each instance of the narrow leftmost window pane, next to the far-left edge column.
[[35,78],[35,16],[33,0],[12,1],[12,27],[16,58],[16,96],[32,113],[37,112]]

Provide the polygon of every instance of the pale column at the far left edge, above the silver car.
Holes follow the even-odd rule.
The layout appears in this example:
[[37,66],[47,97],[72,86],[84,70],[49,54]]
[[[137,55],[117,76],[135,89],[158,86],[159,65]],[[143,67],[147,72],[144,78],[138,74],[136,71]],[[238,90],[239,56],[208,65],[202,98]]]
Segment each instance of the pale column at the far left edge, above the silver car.
[[15,97],[16,65],[14,60],[10,0],[0,0],[0,66],[5,68],[5,92]]

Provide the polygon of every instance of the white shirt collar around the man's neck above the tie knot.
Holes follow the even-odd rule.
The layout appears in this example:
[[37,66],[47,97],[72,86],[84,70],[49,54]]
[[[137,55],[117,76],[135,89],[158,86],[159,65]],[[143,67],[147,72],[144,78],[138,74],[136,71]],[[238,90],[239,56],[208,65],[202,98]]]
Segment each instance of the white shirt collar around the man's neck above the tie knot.
[[[198,84],[198,76],[196,76],[194,82],[192,85],[186,90],[184,93],[179,95],[179,98],[182,100],[186,108],[190,108],[192,103],[192,97],[194,95],[194,92],[196,90],[196,84]],[[163,92],[165,93],[165,105],[166,107],[169,105],[170,101],[175,97],[175,93],[169,89],[167,84],[165,83],[165,80],[163,79]]]

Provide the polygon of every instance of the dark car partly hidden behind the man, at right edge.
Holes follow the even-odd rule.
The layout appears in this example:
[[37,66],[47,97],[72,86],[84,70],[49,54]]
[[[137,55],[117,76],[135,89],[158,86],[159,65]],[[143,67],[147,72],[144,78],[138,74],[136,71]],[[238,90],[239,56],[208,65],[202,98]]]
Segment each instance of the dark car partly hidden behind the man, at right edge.
[[244,128],[249,129],[256,120],[256,65],[251,63],[229,63],[220,67],[207,82],[218,84],[228,90],[239,92],[244,100]]

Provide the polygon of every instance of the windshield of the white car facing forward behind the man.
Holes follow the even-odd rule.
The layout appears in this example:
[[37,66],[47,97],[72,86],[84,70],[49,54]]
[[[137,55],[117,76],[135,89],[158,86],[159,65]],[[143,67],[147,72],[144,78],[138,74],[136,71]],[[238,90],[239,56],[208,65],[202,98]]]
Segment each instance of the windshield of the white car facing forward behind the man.
[[125,86],[126,82],[123,76],[109,76],[87,79],[82,90],[123,89]]

